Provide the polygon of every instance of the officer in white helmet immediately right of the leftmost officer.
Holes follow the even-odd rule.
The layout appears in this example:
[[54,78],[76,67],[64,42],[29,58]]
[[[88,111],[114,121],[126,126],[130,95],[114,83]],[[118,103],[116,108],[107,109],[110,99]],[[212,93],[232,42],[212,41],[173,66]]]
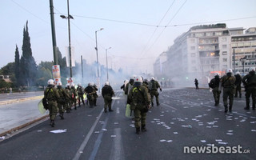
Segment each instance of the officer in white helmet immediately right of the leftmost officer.
[[58,100],[58,113],[59,116],[64,119],[64,113],[66,110],[66,100],[70,98],[70,95],[66,93],[66,90],[62,88],[62,82],[57,82],[57,90],[59,94]]

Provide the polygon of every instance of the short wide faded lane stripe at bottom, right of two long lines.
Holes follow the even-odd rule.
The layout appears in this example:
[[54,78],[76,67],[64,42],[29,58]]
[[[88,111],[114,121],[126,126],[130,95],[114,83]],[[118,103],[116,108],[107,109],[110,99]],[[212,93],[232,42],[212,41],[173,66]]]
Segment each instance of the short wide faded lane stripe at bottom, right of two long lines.
[[115,128],[114,135],[115,135],[113,137],[114,145],[111,148],[110,159],[114,159],[114,160],[125,159],[124,150],[122,146],[121,128]]

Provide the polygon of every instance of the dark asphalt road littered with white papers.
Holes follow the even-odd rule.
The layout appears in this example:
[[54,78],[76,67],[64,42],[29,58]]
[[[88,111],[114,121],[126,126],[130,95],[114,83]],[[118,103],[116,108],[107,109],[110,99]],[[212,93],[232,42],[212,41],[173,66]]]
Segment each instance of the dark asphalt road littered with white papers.
[[[113,101],[114,112],[82,106],[0,142],[1,159],[255,159],[256,111],[243,110],[244,95],[235,98],[232,114],[224,114],[222,101],[214,106],[209,90],[166,89],[160,106],[146,119],[147,132],[135,134],[134,121],[125,117],[125,98]],[[61,130],[54,134],[50,131]],[[184,148],[241,146],[243,154],[184,153]],[[213,149],[214,147],[214,149]],[[188,150],[185,150],[188,152]],[[190,152],[194,152],[190,150]],[[248,153],[250,152],[250,153]]]

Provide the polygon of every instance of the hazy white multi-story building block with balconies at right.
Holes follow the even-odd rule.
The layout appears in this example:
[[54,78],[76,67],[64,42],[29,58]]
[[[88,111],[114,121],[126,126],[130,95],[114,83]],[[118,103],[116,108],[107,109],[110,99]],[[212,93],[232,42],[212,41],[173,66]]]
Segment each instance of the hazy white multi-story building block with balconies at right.
[[233,68],[235,53],[235,70],[242,71],[241,58],[246,56],[245,71],[256,64],[255,42],[256,28],[226,28],[226,24],[209,26],[194,26],[189,31],[174,40],[174,45],[166,51],[166,62],[157,60],[156,66],[162,66],[163,71],[154,70],[154,74],[164,74],[169,78],[194,81],[200,78],[207,84],[207,77],[214,72],[224,74],[228,68]]

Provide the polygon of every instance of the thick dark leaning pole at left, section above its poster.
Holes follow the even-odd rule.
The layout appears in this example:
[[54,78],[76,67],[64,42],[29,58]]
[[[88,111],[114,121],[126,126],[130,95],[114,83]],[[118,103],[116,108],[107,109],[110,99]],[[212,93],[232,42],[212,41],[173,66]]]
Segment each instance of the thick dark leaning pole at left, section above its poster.
[[51,34],[52,34],[52,39],[53,39],[54,64],[58,65],[58,54],[57,54],[55,25],[54,25],[54,3],[53,3],[53,0],[50,0],[50,22],[51,22]]

